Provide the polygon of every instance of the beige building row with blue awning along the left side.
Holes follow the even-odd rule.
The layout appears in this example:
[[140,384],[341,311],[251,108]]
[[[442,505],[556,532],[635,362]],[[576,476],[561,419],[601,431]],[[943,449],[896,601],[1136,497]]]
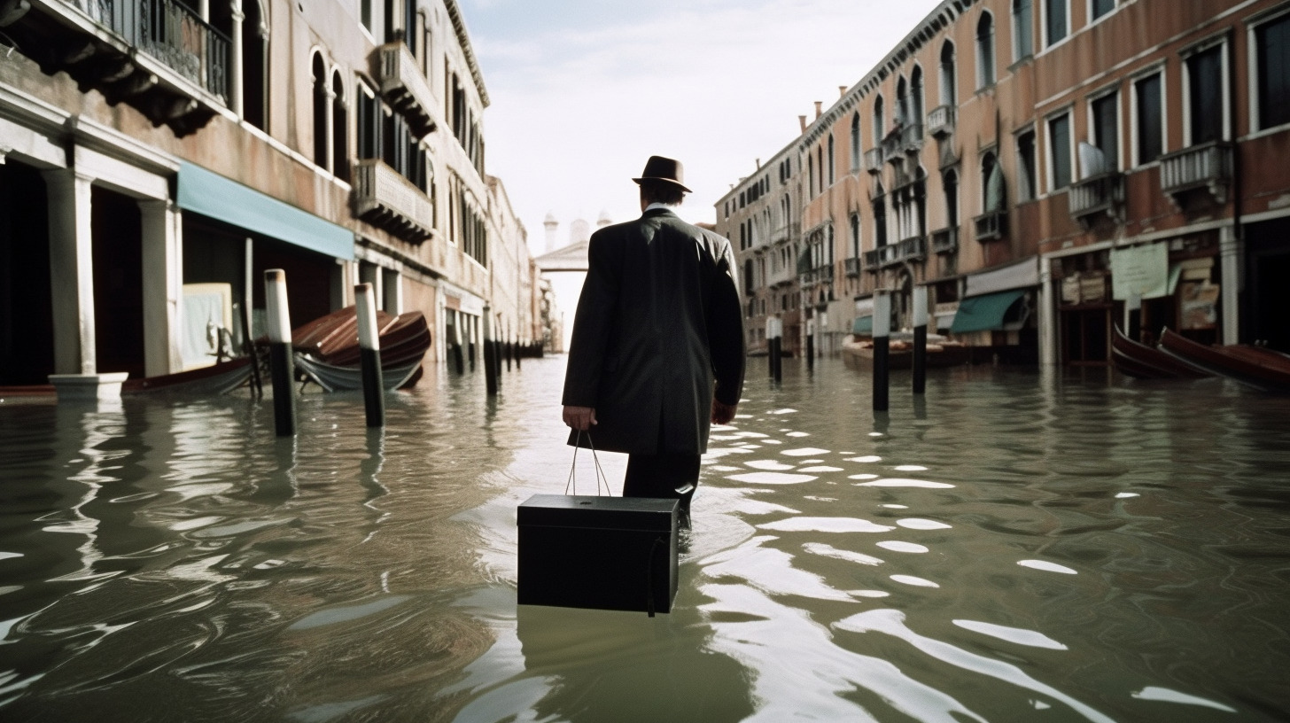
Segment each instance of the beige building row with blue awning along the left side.
[[266,269],[293,325],[372,283],[433,360],[480,338],[501,257],[498,321],[534,338],[455,0],[36,0],[0,31],[0,385],[209,364],[259,336]]

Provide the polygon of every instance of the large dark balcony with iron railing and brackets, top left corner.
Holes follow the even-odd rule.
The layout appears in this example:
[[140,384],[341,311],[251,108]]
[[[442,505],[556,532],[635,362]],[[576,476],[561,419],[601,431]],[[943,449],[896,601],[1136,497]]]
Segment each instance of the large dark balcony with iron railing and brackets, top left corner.
[[[228,99],[228,36],[177,0],[0,3],[5,44],[183,137]],[[8,12],[8,10],[6,10]]]

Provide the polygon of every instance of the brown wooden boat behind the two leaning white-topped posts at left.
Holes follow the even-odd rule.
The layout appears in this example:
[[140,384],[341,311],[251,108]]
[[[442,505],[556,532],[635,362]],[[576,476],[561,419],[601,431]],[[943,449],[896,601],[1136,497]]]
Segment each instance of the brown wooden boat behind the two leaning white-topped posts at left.
[[[421,362],[430,350],[426,315],[409,311],[392,316],[377,311],[381,371],[387,389],[402,389],[421,378]],[[362,389],[359,316],[353,306],[320,316],[292,332],[297,367],[326,391]]]

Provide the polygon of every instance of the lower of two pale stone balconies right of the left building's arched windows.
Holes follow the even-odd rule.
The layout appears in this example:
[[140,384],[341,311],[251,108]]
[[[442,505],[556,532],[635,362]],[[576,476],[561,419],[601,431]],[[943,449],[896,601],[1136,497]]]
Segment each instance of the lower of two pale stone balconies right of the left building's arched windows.
[[435,232],[435,207],[426,194],[378,159],[353,167],[353,214],[414,244]]

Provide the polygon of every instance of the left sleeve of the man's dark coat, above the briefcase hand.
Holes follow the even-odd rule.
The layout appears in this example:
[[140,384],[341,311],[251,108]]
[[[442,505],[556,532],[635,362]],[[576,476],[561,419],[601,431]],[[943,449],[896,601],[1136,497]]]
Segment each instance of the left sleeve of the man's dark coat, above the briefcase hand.
[[613,241],[606,234],[596,232],[587,245],[587,279],[578,297],[565,371],[562,404],[566,407],[596,407],[605,349],[618,310],[620,262],[613,253]]

